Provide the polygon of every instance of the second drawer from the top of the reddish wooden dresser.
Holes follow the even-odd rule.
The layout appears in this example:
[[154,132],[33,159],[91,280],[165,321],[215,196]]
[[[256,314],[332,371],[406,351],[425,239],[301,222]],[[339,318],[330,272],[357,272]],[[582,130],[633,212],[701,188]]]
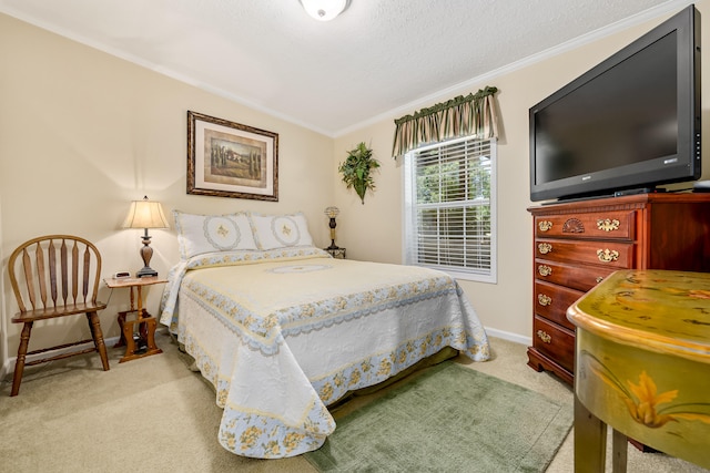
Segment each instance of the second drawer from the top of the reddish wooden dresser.
[[626,269],[633,267],[633,244],[538,238],[535,240],[535,257]]

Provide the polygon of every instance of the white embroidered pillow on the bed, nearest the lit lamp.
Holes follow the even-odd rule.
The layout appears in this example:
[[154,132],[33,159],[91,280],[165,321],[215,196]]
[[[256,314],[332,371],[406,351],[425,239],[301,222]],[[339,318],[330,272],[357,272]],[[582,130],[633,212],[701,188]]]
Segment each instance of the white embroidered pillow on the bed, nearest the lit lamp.
[[195,215],[173,210],[180,257],[235,249],[257,249],[244,213],[229,215]]

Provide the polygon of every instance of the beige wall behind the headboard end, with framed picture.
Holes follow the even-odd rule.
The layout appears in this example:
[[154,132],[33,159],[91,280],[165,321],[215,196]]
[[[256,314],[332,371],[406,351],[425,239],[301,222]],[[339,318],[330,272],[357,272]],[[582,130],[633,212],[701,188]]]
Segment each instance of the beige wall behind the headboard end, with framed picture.
[[[142,267],[142,230],[120,226],[130,200],[144,194],[162,202],[168,214],[303,210],[316,243],[326,243],[323,209],[332,204],[335,174],[331,137],[2,14],[0,64],[3,273],[18,245],[51,233],[78,234],[97,244],[104,276],[136,271]],[[277,203],[186,194],[187,110],[278,133]],[[174,228],[151,235],[155,250],[151,266],[165,276],[178,260]],[[9,322],[17,305],[7,278],[2,289],[8,326],[4,362],[17,353],[21,327]],[[149,291],[151,312],[158,311],[160,291],[159,287]],[[116,337],[115,313],[126,308],[128,291],[116,289],[111,295],[104,288],[101,298],[111,304],[101,313],[104,335]],[[72,336],[67,323],[47,326],[38,323],[33,330],[34,347],[50,337]]]

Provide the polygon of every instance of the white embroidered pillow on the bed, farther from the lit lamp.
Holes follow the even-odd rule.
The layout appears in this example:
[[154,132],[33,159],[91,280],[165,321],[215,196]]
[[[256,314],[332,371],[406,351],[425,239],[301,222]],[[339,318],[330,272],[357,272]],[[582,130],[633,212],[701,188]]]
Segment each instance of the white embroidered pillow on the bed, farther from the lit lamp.
[[250,215],[254,237],[260,249],[313,246],[306,217],[302,213],[292,215]]

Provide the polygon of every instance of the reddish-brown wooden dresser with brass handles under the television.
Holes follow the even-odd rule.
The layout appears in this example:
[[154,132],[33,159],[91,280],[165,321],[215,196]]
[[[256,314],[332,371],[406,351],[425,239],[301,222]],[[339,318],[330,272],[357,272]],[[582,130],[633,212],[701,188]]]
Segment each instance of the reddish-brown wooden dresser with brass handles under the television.
[[659,193],[528,208],[534,216],[528,364],[574,383],[567,308],[617,269],[710,273],[710,194]]

